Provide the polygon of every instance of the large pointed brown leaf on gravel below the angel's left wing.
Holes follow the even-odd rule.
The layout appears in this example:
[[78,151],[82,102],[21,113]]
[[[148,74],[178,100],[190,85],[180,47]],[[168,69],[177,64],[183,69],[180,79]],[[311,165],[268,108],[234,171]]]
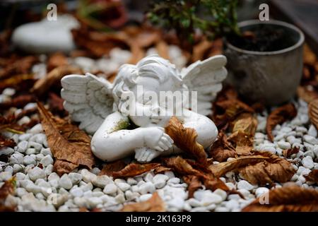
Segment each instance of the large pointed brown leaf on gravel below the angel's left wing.
[[90,137],[63,119],[53,117],[45,107],[37,102],[41,123],[47,136],[47,143],[54,158],[54,169],[58,174],[71,172],[79,165],[91,169],[95,158],[90,150]]

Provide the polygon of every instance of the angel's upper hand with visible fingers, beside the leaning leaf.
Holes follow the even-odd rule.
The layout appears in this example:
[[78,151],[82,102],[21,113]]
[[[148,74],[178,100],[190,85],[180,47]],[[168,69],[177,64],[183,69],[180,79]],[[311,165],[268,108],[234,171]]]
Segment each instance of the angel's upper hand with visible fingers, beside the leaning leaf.
[[172,148],[173,140],[163,127],[155,126],[143,128],[143,142],[148,148],[165,151]]

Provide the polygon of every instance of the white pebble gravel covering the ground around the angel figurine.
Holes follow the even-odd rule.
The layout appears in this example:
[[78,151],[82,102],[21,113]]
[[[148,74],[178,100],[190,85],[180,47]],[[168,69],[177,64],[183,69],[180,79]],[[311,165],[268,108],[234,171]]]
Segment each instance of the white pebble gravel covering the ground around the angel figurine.
[[[148,51],[153,53],[155,49]],[[182,68],[185,59],[178,48],[170,47],[172,62]],[[130,56],[129,52],[114,49],[110,59],[92,59],[78,57],[72,59],[73,64],[81,66],[85,71],[102,69],[114,71]],[[42,57],[45,59],[45,56]],[[109,65],[112,65],[110,67]],[[42,77],[47,73],[45,63],[33,66],[37,76]],[[11,100],[15,90],[7,88],[0,95],[0,102]],[[302,100],[292,100],[298,109],[298,115],[292,121],[286,121],[276,126],[273,130],[274,141],[268,141],[265,126],[269,112],[264,111],[257,115],[259,125],[254,137],[254,148],[266,150],[283,157],[282,150],[299,147],[298,154],[291,155],[288,160],[293,162],[297,173],[292,181],[299,186],[317,185],[306,182],[304,175],[312,169],[318,169],[318,139],[317,130],[310,124],[307,114],[307,103]],[[29,103],[24,109],[36,107],[35,103]],[[15,109],[18,114],[22,109]],[[29,117],[23,117],[19,123],[30,121]],[[240,198],[237,194],[227,195],[223,190],[212,192],[202,189],[194,193],[194,198],[188,198],[187,184],[175,177],[173,172],[165,174],[153,174],[147,172],[138,177],[128,179],[112,179],[108,176],[98,176],[100,169],[76,169],[69,174],[59,177],[52,172],[54,160],[47,146],[45,133],[41,124],[23,134],[6,132],[5,136],[13,138],[17,145],[14,148],[3,148],[0,155],[8,155],[8,162],[0,162],[0,186],[4,181],[16,175],[17,189],[14,196],[9,195],[6,205],[16,204],[18,211],[78,211],[81,207],[93,209],[100,208],[103,211],[120,210],[125,203],[146,201],[153,192],[158,194],[166,204],[168,211],[240,211],[254,198],[261,196],[266,187],[257,187],[229,172],[220,179],[230,188],[235,188],[245,196]],[[214,162],[218,164],[218,162]],[[40,165],[40,167],[38,167]],[[42,167],[42,168],[41,168]],[[276,184],[276,188],[283,184]],[[52,203],[54,204],[49,204]]]

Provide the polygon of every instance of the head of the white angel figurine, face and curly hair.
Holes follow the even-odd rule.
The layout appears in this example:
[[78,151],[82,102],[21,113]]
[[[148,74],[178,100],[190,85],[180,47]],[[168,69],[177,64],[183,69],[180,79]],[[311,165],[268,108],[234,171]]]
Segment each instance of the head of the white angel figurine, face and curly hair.
[[[129,116],[137,126],[165,126],[176,109],[182,108],[187,90],[177,69],[169,61],[150,56],[135,65],[124,64],[114,81],[114,96],[118,97],[118,110]],[[169,105],[171,103],[172,105]]]

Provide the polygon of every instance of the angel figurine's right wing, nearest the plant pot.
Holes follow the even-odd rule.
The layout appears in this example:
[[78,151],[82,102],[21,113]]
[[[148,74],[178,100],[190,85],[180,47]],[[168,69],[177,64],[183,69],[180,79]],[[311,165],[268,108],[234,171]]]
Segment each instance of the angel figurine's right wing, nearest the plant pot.
[[184,84],[188,86],[189,91],[197,91],[197,112],[199,114],[211,114],[211,102],[222,90],[222,81],[228,75],[228,71],[225,69],[226,61],[226,57],[218,55],[204,61],[196,61],[182,69],[181,76]]

